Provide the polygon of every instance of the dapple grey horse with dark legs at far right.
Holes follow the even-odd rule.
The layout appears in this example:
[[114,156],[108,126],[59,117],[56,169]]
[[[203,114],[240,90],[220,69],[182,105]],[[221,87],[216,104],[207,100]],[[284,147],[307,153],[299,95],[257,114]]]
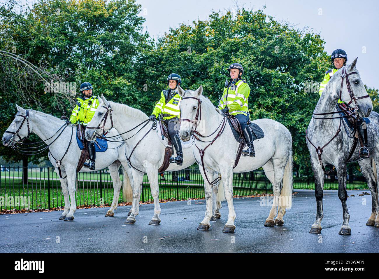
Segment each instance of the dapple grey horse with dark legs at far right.
[[[352,103],[352,96],[349,94],[349,90],[346,82],[349,84],[350,91],[353,92],[356,98],[356,105],[359,115],[361,117],[368,117],[370,115],[370,124],[366,127],[368,132],[368,149],[370,151],[370,157],[359,161],[359,166],[362,174],[367,180],[368,187],[371,191],[372,198],[372,210],[371,216],[368,219],[366,225],[374,225],[379,227],[379,209],[378,209],[378,136],[379,136],[379,114],[372,112],[373,104],[368,96],[365,86],[360,78],[359,72],[356,69],[356,58],[350,65],[344,66],[339,69],[327,83],[320,99],[317,102],[314,110],[314,116],[311,119],[308,129],[306,142],[310,153],[310,161],[312,164],[313,173],[315,175],[315,195],[316,195],[316,221],[313,223],[310,233],[321,232],[321,220],[323,219],[323,186],[325,178],[325,165],[331,164],[337,169],[338,176],[338,197],[342,203],[343,210],[343,224],[341,226],[339,234],[349,235],[351,234],[351,228],[349,226],[349,211],[346,205],[348,194],[346,192],[346,161],[349,156],[349,151],[353,144],[353,139],[344,131],[343,119],[338,118],[338,114],[335,113],[335,109],[338,99],[347,104]],[[346,80],[345,80],[346,79]],[[352,101],[352,102],[351,102]],[[316,113],[316,114],[315,114]],[[328,114],[324,114],[328,113]],[[371,114],[370,114],[371,113]],[[323,119],[316,119],[323,118]],[[335,118],[335,119],[328,119]],[[342,126],[341,126],[342,124]],[[341,131],[341,132],[338,132]],[[350,161],[358,161],[359,147],[356,148],[352,154]],[[319,154],[318,154],[319,153]],[[319,159],[321,156],[321,160]]]

